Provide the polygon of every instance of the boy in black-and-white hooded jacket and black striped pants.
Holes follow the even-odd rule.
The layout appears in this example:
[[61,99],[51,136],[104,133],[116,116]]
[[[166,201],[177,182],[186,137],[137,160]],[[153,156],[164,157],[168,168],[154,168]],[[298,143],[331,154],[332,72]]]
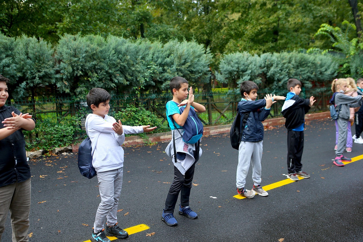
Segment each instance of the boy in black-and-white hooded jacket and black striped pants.
[[298,79],[287,81],[286,100],[282,106],[285,127],[287,128],[287,170],[290,180],[298,181],[300,177],[309,178],[310,175],[301,170],[301,156],[304,148],[304,123],[305,114],[313,106],[314,97],[300,98],[301,82]]

